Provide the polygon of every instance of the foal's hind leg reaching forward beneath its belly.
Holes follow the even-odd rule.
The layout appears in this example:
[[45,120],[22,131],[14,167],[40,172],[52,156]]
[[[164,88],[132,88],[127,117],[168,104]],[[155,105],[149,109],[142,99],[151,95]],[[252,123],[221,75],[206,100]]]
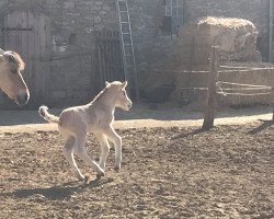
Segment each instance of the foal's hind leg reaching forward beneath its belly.
[[88,165],[90,165],[98,173],[99,177],[104,176],[104,170],[101,169],[96,162],[92,161],[89,154],[87,153],[87,150],[84,148],[85,136],[85,132],[78,134],[76,136],[76,152]]

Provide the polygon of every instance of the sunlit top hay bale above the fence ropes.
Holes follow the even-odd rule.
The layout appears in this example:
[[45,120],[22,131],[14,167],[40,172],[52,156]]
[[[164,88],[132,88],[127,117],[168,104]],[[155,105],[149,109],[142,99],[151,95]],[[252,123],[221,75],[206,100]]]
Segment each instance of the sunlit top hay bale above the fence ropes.
[[[212,46],[218,46],[221,61],[261,61],[256,50],[258,31],[244,19],[207,16],[184,25],[176,38],[178,64],[207,66]],[[173,65],[173,66],[180,66]]]

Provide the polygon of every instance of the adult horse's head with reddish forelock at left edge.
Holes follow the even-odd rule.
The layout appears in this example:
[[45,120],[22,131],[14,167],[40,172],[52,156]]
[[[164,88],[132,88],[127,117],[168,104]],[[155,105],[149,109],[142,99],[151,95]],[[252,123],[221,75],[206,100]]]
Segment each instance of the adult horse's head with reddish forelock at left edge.
[[30,91],[21,74],[25,64],[15,51],[0,49],[0,89],[16,104],[28,102]]

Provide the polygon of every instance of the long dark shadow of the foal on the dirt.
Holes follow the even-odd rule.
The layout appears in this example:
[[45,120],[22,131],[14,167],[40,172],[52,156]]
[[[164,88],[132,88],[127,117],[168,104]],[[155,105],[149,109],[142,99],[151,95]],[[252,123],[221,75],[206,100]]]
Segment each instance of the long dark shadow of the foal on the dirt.
[[107,177],[93,180],[89,182],[89,184],[70,182],[47,188],[22,188],[11,193],[0,193],[0,197],[28,198],[34,195],[39,195],[41,197],[49,200],[62,200],[71,197],[72,194],[79,194],[85,189],[100,187],[113,181],[113,178]]

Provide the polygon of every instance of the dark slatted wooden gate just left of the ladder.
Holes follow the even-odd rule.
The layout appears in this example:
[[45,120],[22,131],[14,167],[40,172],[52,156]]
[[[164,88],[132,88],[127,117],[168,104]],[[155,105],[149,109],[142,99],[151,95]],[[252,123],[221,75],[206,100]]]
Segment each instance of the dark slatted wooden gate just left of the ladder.
[[95,32],[95,37],[100,87],[104,88],[105,81],[124,81],[119,33],[116,31]]

